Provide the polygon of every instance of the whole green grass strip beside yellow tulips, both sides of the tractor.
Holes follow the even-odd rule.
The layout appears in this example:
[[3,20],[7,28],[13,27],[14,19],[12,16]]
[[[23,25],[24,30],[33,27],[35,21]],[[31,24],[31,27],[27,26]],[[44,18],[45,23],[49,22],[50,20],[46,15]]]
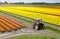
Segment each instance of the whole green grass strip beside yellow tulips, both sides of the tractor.
[[[24,18],[20,18],[20,17],[18,17],[18,16],[11,15],[10,12],[6,12],[6,11],[0,11],[0,12],[6,14],[6,15],[8,15],[8,16],[11,16],[11,17],[13,17],[13,18],[16,18],[16,19],[19,19],[19,20],[23,20],[23,21],[25,21],[25,22],[28,22],[28,23],[30,23],[30,24],[33,23],[33,22],[30,21],[30,20],[28,21],[28,20],[26,20],[26,19],[24,19]],[[8,13],[9,13],[9,14],[8,14]],[[60,30],[55,29],[55,28],[52,28],[52,27],[50,27],[50,26],[45,26],[45,29],[51,30],[51,31],[53,31],[53,32],[55,32],[55,33],[60,34]]]

